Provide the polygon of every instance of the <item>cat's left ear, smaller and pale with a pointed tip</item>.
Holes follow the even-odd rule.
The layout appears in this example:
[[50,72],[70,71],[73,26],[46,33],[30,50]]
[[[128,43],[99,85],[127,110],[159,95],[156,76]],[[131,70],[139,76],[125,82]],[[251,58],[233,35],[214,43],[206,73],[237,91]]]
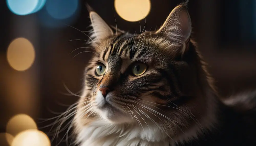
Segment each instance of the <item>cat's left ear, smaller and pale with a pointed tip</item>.
[[90,37],[92,43],[100,43],[101,40],[113,35],[112,29],[96,12],[90,12],[90,19],[92,26]]

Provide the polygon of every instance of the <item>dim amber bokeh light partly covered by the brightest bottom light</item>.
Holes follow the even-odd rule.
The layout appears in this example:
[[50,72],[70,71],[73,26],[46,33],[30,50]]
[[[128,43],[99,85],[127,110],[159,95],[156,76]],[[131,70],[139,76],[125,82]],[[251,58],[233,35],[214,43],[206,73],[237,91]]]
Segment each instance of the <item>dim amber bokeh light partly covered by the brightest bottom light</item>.
[[28,115],[19,114],[12,117],[6,126],[6,132],[16,136],[18,133],[29,130],[37,129],[36,122]]

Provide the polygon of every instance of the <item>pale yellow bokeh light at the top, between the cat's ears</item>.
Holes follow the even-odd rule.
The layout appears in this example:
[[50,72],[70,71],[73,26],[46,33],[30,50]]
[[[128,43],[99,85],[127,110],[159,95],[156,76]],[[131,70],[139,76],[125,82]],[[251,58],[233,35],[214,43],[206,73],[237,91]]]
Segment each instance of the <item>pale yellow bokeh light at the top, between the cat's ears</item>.
[[127,21],[139,21],[150,12],[150,0],[115,0],[117,14]]

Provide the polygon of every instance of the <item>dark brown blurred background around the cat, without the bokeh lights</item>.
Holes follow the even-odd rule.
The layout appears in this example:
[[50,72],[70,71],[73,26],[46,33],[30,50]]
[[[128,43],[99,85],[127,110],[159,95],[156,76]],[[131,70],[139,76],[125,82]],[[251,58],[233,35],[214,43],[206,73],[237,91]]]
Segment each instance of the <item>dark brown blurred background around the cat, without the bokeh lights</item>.
[[[146,20],[147,30],[159,28],[180,2],[151,0],[149,15],[139,22],[143,27]],[[140,32],[140,24],[123,20],[115,12],[114,1],[110,0],[81,0],[76,16],[64,23],[88,31],[90,20],[86,3],[108,24],[115,26],[116,20],[119,29]],[[223,98],[255,89],[256,0],[190,0],[188,8],[199,50]],[[18,16],[1,1],[0,11],[0,132],[5,132],[6,123],[16,114],[25,113],[40,122],[39,118],[51,118],[56,116],[54,112],[65,111],[67,106],[63,104],[75,103],[78,97],[62,94],[68,93],[63,84],[73,93],[81,90],[83,71],[91,53],[74,57],[85,51],[81,48],[69,54],[86,46],[85,41],[69,40],[88,40],[87,36],[70,26],[45,25],[55,21],[41,20],[45,17],[45,8],[32,15]],[[8,45],[17,37],[29,39],[36,51],[34,64],[24,72],[13,70],[6,60]],[[18,96],[13,97],[11,93]],[[52,122],[54,120],[38,123],[38,126]],[[49,128],[41,130],[47,133]],[[56,140],[52,145],[55,143]],[[60,143],[64,145],[65,142]]]

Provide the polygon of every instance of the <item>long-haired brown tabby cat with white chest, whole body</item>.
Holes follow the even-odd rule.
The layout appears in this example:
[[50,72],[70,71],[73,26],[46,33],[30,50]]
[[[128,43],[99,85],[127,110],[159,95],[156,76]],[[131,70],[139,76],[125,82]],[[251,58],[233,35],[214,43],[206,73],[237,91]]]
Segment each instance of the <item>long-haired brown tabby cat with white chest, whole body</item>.
[[220,100],[187,2],[141,34],[114,31],[93,11],[90,19],[95,55],[73,119],[79,146],[256,145],[256,94],[244,97],[250,108]]

